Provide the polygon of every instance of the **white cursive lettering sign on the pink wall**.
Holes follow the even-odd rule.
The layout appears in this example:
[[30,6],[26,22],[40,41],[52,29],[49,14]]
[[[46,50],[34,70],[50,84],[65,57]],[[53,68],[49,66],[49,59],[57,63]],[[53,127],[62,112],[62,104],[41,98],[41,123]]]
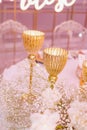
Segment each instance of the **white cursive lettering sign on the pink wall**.
[[[2,1],[3,0],[0,0],[0,3]],[[27,10],[31,5],[33,5],[36,10],[40,10],[46,5],[49,6],[55,3],[54,10],[56,12],[61,12],[65,6],[72,6],[75,2],[76,0],[20,0],[20,8],[21,10]]]

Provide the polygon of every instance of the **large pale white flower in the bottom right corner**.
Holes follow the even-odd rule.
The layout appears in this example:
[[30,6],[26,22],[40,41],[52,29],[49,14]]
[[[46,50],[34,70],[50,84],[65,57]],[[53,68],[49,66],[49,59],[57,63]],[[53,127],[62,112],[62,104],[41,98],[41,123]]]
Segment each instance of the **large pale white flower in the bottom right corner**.
[[69,109],[72,124],[78,130],[87,130],[87,102],[74,101]]

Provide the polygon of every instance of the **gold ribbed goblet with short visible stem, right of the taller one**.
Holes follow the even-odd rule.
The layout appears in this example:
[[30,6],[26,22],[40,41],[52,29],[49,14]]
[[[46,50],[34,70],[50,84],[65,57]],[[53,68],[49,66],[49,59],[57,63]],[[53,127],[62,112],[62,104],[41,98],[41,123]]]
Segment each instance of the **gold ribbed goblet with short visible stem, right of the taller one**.
[[57,75],[63,70],[68,57],[68,52],[62,48],[46,48],[43,52],[44,65],[49,73],[48,80],[51,88],[57,80]]

